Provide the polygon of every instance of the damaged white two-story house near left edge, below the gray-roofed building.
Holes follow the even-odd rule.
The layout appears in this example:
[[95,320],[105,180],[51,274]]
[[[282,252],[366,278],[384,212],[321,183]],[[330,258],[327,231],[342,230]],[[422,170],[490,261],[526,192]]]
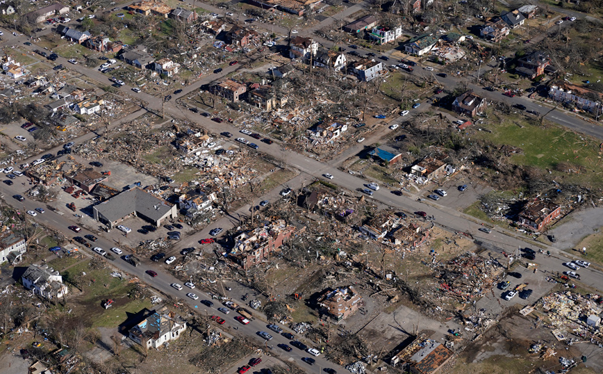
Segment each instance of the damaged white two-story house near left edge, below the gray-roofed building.
[[23,273],[21,281],[26,289],[33,291],[34,295],[48,300],[62,298],[69,291],[63,284],[63,277],[48,265],[30,265]]

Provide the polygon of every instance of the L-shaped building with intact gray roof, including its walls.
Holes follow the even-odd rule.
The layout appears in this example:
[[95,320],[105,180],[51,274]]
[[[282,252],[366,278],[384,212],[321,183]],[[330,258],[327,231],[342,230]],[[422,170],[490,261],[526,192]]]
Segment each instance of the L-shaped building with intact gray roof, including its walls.
[[113,229],[118,222],[139,217],[159,227],[167,218],[176,218],[176,205],[155,197],[140,188],[126,190],[93,208],[94,220]]

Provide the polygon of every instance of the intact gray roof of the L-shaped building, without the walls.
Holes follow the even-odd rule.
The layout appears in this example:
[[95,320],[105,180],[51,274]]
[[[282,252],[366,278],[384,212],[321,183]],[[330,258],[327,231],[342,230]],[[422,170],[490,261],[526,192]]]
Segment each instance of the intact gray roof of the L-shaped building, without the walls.
[[160,220],[172,210],[173,204],[165,202],[140,188],[126,190],[106,202],[94,206],[104,218],[115,222],[136,212],[149,220]]

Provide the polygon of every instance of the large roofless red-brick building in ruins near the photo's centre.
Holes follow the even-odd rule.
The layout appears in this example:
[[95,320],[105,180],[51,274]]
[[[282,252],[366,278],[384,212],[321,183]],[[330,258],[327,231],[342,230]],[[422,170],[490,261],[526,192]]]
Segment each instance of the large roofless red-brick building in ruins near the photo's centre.
[[270,257],[270,253],[278,250],[293,231],[295,227],[287,225],[284,220],[276,220],[241,233],[234,238],[235,245],[229,252],[229,258],[247,270]]

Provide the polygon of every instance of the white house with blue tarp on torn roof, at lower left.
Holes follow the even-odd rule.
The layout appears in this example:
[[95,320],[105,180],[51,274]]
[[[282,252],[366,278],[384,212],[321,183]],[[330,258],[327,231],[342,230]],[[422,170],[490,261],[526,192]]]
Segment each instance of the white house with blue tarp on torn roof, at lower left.
[[186,330],[186,320],[163,307],[132,327],[130,339],[146,348],[158,349],[168,341],[176,340]]

